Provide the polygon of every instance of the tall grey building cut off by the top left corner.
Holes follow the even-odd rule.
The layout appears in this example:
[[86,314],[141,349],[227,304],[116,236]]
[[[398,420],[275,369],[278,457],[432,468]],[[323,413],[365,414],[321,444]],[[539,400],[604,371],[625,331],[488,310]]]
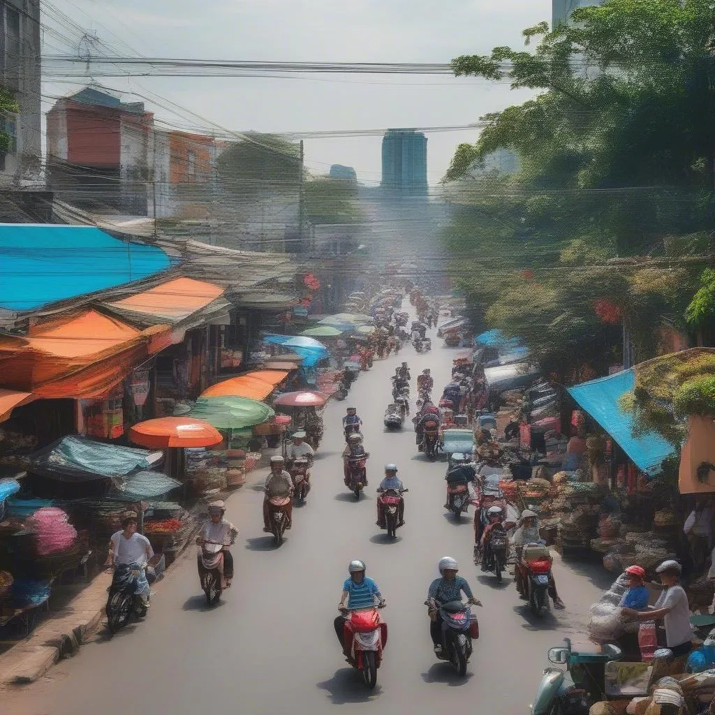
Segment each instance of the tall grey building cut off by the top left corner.
[[0,152],[0,184],[39,179],[41,171],[40,4],[0,0],[0,85],[13,94],[16,114],[0,114],[9,147]]

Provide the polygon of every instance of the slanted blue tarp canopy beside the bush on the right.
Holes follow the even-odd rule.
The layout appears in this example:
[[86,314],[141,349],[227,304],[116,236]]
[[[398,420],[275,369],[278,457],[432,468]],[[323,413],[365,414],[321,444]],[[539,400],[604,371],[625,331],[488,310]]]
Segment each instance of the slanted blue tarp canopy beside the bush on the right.
[[568,392],[616,440],[639,469],[655,475],[661,470],[661,462],[674,454],[674,449],[655,432],[639,438],[633,437],[633,418],[621,411],[618,398],[631,392],[635,385],[636,373],[631,368],[616,375],[609,375],[608,378],[577,385]]

